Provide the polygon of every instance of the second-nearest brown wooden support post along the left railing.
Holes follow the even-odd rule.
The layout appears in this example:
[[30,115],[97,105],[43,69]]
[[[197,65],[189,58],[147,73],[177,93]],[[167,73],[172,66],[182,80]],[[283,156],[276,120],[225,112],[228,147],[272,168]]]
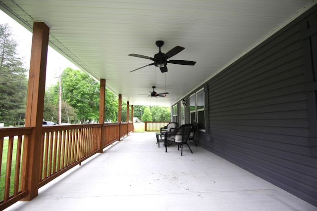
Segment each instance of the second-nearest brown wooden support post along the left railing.
[[99,123],[102,124],[101,136],[99,144],[99,152],[103,152],[105,139],[105,94],[106,94],[106,79],[100,80],[100,97],[99,97]]

